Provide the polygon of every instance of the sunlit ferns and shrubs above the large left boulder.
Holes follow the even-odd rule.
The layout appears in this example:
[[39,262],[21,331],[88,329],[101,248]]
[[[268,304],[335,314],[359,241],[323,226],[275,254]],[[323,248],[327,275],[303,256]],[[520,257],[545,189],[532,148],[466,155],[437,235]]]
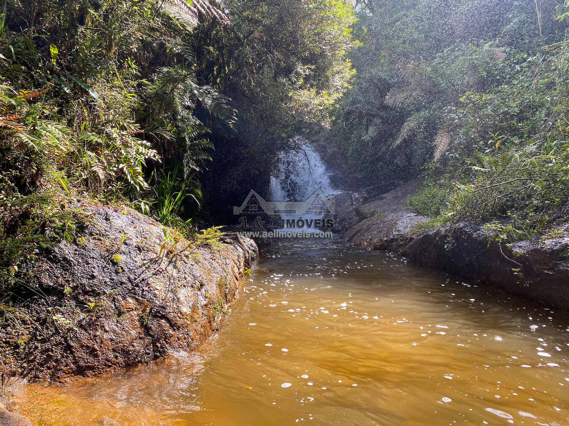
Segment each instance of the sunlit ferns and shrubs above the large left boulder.
[[[191,180],[212,148],[203,137],[208,129],[193,115],[198,104],[225,122],[234,119],[228,98],[197,85],[188,47],[199,16],[225,25],[224,12],[209,3],[201,15],[190,3],[136,3],[5,2],[0,283],[6,291],[25,278],[24,266],[42,249],[75,238],[86,219],[72,207],[77,200],[130,203],[150,213],[154,197],[164,195],[152,190],[156,165],[171,161],[163,166],[170,176],[170,167],[182,162]],[[189,180],[184,185],[193,191]],[[167,213],[156,215],[170,223],[179,211]]]

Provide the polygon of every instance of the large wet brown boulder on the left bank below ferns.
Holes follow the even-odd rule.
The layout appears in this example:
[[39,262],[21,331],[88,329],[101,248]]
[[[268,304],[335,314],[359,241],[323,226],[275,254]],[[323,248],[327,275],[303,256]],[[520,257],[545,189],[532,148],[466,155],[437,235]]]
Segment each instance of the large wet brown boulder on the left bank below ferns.
[[195,249],[134,210],[82,210],[84,235],[37,262],[19,306],[27,318],[0,331],[10,375],[101,373],[195,350],[217,333],[257,256],[253,241],[229,233]]

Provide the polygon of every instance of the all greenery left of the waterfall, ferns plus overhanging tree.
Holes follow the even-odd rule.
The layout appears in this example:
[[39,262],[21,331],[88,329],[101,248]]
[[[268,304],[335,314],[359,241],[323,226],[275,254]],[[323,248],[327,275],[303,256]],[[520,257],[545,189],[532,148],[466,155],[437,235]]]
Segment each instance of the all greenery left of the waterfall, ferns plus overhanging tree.
[[333,0],[4,2],[2,285],[76,238],[78,202],[188,232],[220,190],[268,181],[275,153],[303,123],[329,123],[347,90],[353,22]]

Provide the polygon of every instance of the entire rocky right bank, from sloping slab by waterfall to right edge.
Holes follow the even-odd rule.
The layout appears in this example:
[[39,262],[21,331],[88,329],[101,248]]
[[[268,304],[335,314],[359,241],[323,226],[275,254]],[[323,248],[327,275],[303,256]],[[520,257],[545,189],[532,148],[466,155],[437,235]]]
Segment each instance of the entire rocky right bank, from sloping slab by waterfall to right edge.
[[[405,202],[418,181],[360,203],[343,203],[338,222],[345,238],[372,250],[397,252],[426,268],[479,281],[506,293],[569,310],[569,236],[552,230],[546,239],[505,244],[483,224],[417,230],[428,218]],[[339,199],[348,199],[340,194]]]

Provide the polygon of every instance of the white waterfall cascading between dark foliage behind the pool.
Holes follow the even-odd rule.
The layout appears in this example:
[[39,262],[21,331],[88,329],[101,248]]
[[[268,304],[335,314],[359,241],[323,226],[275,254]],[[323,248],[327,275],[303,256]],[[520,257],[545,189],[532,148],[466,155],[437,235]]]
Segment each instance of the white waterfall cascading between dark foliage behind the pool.
[[[271,176],[269,201],[305,201],[319,188],[326,196],[341,192],[332,186],[330,173],[322,158],[305,141],[300,151],[281,156],[281,167],[274,176]],[[285,220],[299,219],[301,215],[282,214],[281,217]],[[323,217],[317,216],[316,218]]]

